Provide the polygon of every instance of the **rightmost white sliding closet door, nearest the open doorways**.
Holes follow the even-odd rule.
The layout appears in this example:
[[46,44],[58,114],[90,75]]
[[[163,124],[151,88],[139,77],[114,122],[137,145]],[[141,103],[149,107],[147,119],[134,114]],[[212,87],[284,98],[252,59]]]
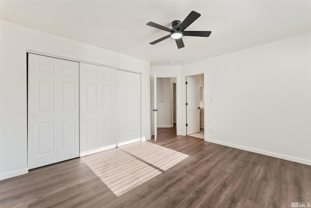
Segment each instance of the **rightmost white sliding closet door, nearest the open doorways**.
[[140,75],[118,70],[117,145],[140,141]]

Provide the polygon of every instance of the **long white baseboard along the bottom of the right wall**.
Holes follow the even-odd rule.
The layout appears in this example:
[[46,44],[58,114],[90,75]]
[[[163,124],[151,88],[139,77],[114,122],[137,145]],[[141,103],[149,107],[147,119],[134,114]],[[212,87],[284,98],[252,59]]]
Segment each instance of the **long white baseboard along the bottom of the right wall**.
[[227,146],[227,147],[233,147],[233,148],[236,148],[236,149],[239,149],[239,150],[251,151],[251,152],[255,152],[255,153],[259,153],[259,154],[263,154],[263,155],[267,155],[267,156],[271,156],[271,157],[276,157],[276,158],[280,158],[280,159],[284,159],[284,160],[289,160],[289,161],[292,161],[292,162],[302,163],[302,164],[311,166],[311,160],[306,160],[306,159],[302,159],[302,158],[292,157],[292,156],[288,156],[288,155],[284,155],[284,154],[279,154],[279,153],[275,153],[275,152],[271,152],[271,151],[264,151],[264,150],[258,150],[258,149],[254,149],[254,148],[244,147],[244,146],[235,145],[235,144],[226,143],[226,142],[221,142],[221,141],[217,141],[217,140],[213,140],[213,139],[205,139],[205,141],[211,142],[211,143],[215,143],[215,144],[219,144],[219,145],[224,145],[224,146]]

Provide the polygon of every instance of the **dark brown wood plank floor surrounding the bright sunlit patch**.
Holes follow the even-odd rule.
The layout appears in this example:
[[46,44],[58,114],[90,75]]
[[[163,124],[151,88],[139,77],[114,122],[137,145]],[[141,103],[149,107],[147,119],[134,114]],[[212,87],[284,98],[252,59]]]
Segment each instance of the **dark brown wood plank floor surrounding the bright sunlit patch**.
[[291,202],[311,202],[311,166],[175,132],[159,129],[156,144],[189,156],[119,197],[76,158],[0,181],[0,207],[291,208]]

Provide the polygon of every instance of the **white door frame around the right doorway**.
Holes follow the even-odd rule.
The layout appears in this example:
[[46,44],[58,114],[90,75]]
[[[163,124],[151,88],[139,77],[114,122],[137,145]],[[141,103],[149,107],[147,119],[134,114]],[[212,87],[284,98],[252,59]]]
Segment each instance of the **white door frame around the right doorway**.
[[[183,135],[187,135],[187,127],[186,127],[186,123],[187,123],[187,108],[186,108],[186,95],[187,95],[187,90],[186,90],[186,77],[187,76],[195,76],[195,75],[202,75],[204,76],[204,129],[206,129],[207,126],[207,121],[206,121],[206,113],[207,113],[207,102],[206,102],[206,98],[207,98],[207,75],[205,73],[205,71],[197,71],[197,72],[190,72],[190,73],[186,73],[182,75],[182,132]],[[206,131],[204,131],[204,140],[206,140]]]

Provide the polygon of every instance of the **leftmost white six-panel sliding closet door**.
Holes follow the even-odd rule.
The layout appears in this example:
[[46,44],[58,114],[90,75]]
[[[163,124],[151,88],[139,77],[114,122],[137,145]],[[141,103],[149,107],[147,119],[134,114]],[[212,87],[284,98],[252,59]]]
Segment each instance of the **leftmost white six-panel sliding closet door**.
[[28,56],[28,168],[79,157],[79,64]]

